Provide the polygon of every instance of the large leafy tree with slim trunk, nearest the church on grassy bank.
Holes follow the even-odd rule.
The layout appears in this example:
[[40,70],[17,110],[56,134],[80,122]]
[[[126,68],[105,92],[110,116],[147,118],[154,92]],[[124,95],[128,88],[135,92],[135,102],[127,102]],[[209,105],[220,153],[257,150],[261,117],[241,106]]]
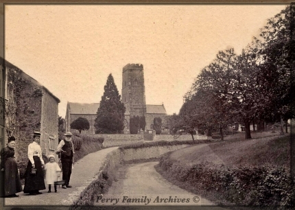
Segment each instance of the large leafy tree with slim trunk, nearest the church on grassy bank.
[[222,139],[223,130],[233,117],[231,98],[236,69],[237,55],[234,49],[219,51],[213,62],[202,69],[188,94],[198,104],[198,115],[202,116],[199,126],[219,128]]

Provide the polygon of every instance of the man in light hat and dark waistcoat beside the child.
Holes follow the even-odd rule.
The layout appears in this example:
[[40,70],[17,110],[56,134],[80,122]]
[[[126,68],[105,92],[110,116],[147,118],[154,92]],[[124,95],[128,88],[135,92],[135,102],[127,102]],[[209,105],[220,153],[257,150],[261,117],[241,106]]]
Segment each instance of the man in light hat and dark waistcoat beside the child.
[[62,180],[65,180],[63,189],[71,188],[69,181],[71,178],[72,165],[73,165],[73,142],[71,137],[73,136],[71,132],[64,134],[65,139],[60,141],[58,148],[56,148],[56,154],[60,154],[60,159],[62,161]]

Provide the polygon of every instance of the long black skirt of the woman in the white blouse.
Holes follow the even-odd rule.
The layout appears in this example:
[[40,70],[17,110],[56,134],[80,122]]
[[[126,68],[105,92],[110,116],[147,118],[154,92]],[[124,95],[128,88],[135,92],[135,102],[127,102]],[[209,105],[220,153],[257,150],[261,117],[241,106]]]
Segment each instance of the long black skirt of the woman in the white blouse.
[[31,174],[32,163],[29,161],[29,163],[27,163],[27,169],[25,170],[25,187],[23,188],[23,193],[25,194],[46,189],[44,183],[44,172],[40,158],[38,156],[33,156],[33,158],[37,171],[36,174]]

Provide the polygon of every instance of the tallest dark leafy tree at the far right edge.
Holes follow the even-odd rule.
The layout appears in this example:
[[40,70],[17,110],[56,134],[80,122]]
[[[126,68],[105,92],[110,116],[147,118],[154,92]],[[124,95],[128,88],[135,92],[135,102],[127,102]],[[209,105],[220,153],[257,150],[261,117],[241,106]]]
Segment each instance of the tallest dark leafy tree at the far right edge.
[[[261,30],[260,41],[261,71],[260,78],[263,85],[263,95],[269,98],[265,115],[281,120],[294,118],[294,73],[292,73],[292,36],[294,24],[290,6],[276,14]],[[283,128],[282,130],[283,131]]]

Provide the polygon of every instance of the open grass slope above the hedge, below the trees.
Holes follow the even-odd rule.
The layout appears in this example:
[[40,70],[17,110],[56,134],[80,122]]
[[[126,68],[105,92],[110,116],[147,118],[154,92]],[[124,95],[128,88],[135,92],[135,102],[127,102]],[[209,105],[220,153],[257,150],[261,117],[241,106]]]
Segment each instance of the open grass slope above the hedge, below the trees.
[[173,152],[171,159],[186,164],[209,161],[228,166],[281,165],[290,168],[290,136],[270,136],[241,141],[220,141]]

